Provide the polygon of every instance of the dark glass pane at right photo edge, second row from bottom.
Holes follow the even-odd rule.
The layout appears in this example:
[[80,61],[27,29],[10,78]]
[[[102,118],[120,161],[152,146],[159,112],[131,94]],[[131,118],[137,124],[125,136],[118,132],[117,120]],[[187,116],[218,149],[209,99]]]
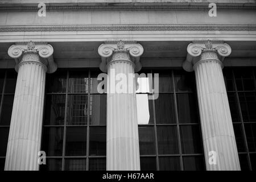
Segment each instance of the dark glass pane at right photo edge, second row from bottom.
[[256,152],[256,123],[245,123],[245,134],[249,152]]

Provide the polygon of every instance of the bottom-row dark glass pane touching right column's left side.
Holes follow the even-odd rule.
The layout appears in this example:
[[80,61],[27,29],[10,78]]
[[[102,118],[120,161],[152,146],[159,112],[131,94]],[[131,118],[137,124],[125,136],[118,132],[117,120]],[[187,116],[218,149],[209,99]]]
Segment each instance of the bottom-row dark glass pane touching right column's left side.
[[203,171],[205,170],[203,156],[184,156],[184,171]]

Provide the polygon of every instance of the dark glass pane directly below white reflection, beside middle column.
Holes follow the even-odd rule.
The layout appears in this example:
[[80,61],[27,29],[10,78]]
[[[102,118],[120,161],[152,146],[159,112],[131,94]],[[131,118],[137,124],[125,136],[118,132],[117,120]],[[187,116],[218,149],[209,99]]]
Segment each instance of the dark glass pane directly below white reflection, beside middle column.
[[155,154],[154,127],[139,126],[139,154]]

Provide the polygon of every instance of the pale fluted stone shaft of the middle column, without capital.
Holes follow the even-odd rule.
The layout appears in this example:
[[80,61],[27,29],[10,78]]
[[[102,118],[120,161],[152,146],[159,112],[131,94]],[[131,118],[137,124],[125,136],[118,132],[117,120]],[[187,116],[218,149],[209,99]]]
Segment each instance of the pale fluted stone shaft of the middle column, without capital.
[[[115,60],[110,63],[108,88],[114,81],[111,78],[119,73],[128,78],[129,73],[134,74],[133,64],[123,60]],[[129,87],[128,82],[126,84]],[[135,90],[134,79],[131,80],[130,84]],[[107,94],[107,108],[107,169],[139,170],[139,136],[135,92]]]

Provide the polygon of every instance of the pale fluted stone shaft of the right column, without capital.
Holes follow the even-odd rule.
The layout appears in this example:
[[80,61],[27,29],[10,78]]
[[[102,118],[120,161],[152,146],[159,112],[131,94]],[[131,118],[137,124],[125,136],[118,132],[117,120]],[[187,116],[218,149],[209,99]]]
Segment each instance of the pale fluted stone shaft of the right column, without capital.
[[[240,170],[221,63],[209,59],[194,68],[207,169]],[[209,164],[210,151],[217,154],[216,164]]]

